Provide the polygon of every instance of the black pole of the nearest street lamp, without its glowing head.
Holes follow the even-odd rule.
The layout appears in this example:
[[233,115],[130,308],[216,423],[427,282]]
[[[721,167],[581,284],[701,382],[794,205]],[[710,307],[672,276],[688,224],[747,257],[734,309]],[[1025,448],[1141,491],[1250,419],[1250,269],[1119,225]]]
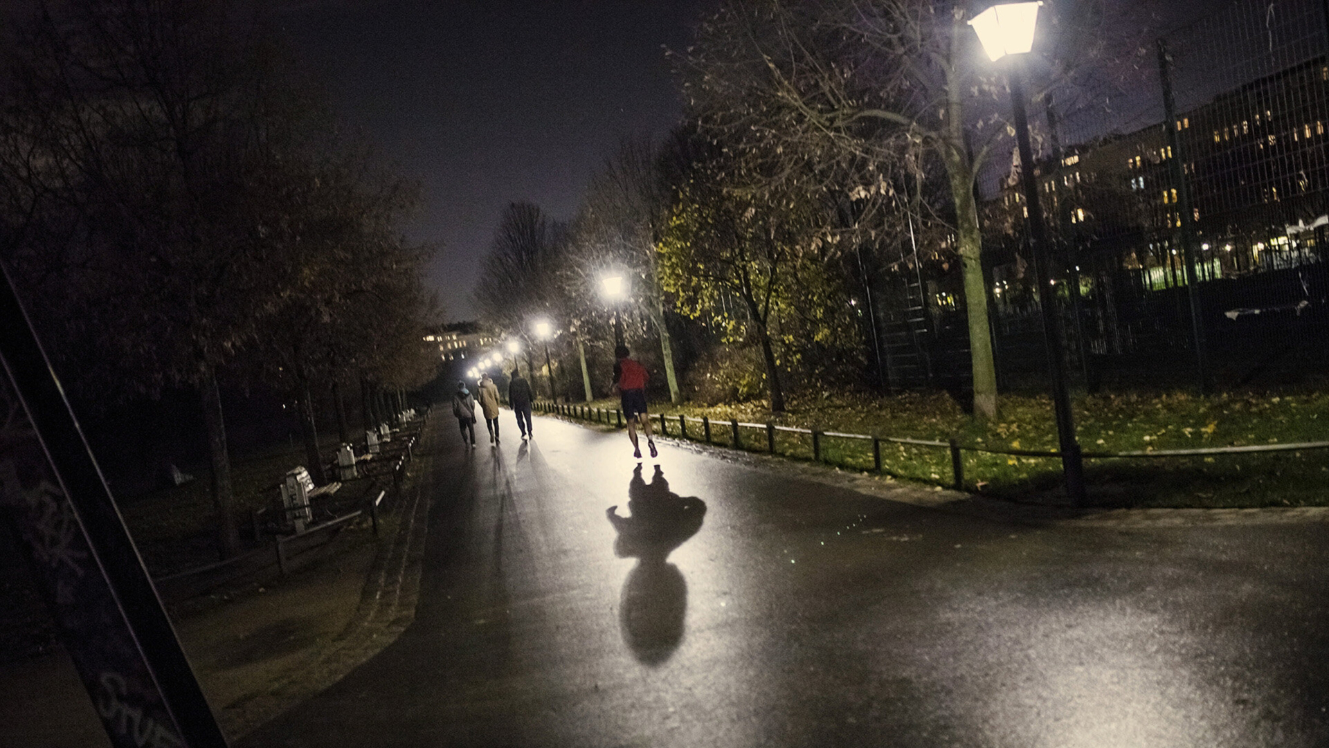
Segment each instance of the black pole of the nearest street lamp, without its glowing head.
[[1011,56],[1010,102],[1015,116],[1015,140],[1019,146],[1019,173],[1029,206],[1029,234],[1034,244],[1034,276],[1038,279],[1038,299],[1043,316],[1043,337],[1047,343],[1047,373],[1053,385],[1053,407],[1057,411],[1057,438],[1062,453],[1062,474],[1066,493],[1079,506],[1084,504],[1084,462],[1075,440],[1075,421],[1071,400],[1066,392],[1066,357],[1062,351],[1062,320],[1057,314],[1057,294],[1051,287],[1051,251],[1047,226],[1043,225],[1043,206],[1038,199],[1034,179],[1034,149],[1029,142],[1029,117],[1025,114],[1025,70],[1018,56]]

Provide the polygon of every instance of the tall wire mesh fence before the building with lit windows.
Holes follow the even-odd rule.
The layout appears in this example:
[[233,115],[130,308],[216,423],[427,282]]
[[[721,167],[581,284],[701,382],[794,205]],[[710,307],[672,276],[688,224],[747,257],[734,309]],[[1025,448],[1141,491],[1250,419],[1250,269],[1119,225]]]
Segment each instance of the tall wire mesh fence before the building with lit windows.
[[[1144,52],[1146,74],[1108,106],[1033,109],[1067,368],[1091,389],[1321,371],[1326,4],[1224,3]],[[1011,388],[1041,383],[1046,359],[1023,205],[1003,177],[982,185],[982,218],[998,377]],[[889,381],[968,387],[957,264],[884,262],[897,268],[878,279]]]

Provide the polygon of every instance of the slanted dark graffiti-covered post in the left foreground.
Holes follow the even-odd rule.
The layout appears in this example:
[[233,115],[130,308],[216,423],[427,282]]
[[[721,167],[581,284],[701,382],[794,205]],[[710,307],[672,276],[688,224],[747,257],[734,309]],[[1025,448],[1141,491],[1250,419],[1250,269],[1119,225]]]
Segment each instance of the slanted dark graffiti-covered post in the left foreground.
[[110,743],[225,747],[8,274],[0,365],[0,508]]

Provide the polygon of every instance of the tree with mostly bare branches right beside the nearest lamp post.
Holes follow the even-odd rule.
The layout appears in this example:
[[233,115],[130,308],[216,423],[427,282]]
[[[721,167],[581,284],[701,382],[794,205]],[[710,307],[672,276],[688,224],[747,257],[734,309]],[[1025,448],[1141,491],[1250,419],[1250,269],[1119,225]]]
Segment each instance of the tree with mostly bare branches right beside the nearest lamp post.
[[[1100,3],[1053,3],[1059,41],[1046,70],[1059,85],[1076,65],[1102,54]],[[945,174],[949,205],[933,218],[956,235],[964,271],[974,407],[997,413],[997,377],[982,274],[975,179],[1005,126],[997,113],[1001,80],[975,66],[977,39],[962,3],[925,0],[732,0],[679,56],[690,109],[728,147],[766,146],[789,154],[775,182],[812,181],[813,159],[848,154],[874,165],[860,171],[859,197],[894,198],[897,185]],[[837,155],[839,154],[839,155]],[[936,167],[933,166],[936,163]],[[853,185],[853,182],[851,182]],[[918,191],[910,201],[918,206]],[[910,201],[894,201],[908,205]],[[920,206],[921,207],[921,206]],[[920,210],[920,213],[922,213]]]

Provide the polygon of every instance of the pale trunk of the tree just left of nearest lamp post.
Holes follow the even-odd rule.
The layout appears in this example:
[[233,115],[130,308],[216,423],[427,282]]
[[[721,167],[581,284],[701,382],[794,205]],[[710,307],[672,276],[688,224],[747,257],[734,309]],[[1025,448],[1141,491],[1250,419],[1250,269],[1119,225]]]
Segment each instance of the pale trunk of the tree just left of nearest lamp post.
[[945,154],[950,175],[950,195],[956,201],[960,231],[960,262],[965,278],[965,312],[969,318],[969,356],[974,377],[974,416],[997,417],[997,365],[993,360],[991,329],[987,323],[987,283],[983,280],[982,233],[974,203],[973,171],[968,158],[952,150]]

